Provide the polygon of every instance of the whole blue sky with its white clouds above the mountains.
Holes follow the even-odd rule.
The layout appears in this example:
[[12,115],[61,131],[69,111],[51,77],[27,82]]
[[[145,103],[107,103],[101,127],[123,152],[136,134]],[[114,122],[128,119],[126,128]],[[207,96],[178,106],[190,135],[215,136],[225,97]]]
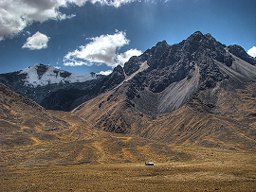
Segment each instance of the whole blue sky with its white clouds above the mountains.
[[256,46],[255,10],[255,0],[1,0],[0,73],[35,63],[111,71],[159,41],[178,44],[197,30],[247,51]]

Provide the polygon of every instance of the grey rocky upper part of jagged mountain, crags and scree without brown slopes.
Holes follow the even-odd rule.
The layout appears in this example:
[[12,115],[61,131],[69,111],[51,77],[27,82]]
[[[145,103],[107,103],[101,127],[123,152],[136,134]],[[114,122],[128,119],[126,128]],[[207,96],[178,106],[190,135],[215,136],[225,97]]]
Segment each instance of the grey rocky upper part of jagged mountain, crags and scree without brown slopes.
[[[159,42],[141,56],[133,57],[124,64],[125,73],[130,72],[129,75],[136,72],[143,61],[147,61],[149,65],[149,68],[130,80],[128,97],[134,99],[137,97],[137,93],[142,91],[145,97],[142,96],[135,100],[138,108],[146,112],[150,109],[151,113],[164,113],[178,109],[199,90],[215,88],[222,81],[234,77],[242,81],[250,79],[246,75],[250,72],[242,73],[242,69],[234,72],[236,69],[232,68],[232,64],[235,59],[229,52],[233,52],[244,61],[251,59],[243,48],[229,46],[229,51],[227,51],[225,44],[217,42],[210,33],[203,35],[200,31],[194,32],[179,44],[169,45],[166,41]],[[239,62],[240,64],[241,62]],[[238,73],[242,73],[241,76],[237,77]],[[150,94],[146,90],[150,91]],[[168,97],[169,95],[170,97]],[[148,96],[155,96],[155,99],[149,101],[153,104],[144,109],[145,104],[140,105],[141,100],[149,99]],[[168,104],[161,104],[162,98],[174,101],[170,102],[169,107],[166,107]],[[156,101],[157,99],[159,101]],[[157,102],[160,104],[156,104]],[[157,105],[159,106],[155,107]]]

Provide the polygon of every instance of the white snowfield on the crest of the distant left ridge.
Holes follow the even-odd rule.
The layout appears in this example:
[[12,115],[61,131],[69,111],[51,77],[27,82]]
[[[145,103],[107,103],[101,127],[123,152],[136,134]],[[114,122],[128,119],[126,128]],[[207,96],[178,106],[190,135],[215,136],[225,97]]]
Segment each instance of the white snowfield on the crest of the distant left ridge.
[[[39,76],[38,71],[40,68],[45,70]],[[55,83],[73,83],[73,82],[84,82],[87,80],[97,79],[96,74],[76,74],[68,73],[64,70],[57,69],[49,65],[34,64],[31,67],[27,67],[20,71],[20,74],[27,74],[27,79],[25,79],[25,86],[37,87],[46,86],[48,84]]]

